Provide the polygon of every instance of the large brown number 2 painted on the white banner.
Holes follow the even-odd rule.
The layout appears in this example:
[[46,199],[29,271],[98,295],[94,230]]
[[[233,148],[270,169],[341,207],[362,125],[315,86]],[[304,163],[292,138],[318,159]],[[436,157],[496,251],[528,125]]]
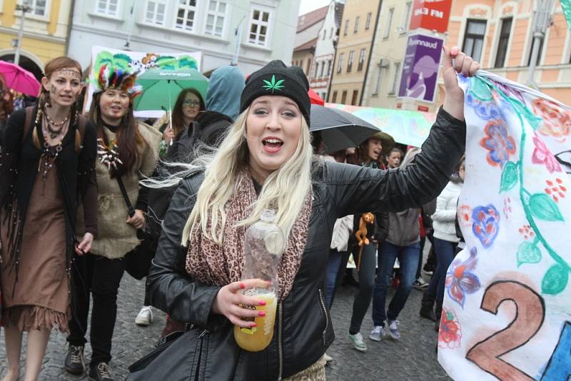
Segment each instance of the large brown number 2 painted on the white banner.
[[480,308],[497,315],[497,309],[506,300],[515,303],[514,320],[503,330],[477,342],[468,350],[466,358],[502,381],[531,381],[533,377],[501,360],[500,356],[525,345],[535,336],[545,319],[545,303],[527,285],[506,280],[487,287]]

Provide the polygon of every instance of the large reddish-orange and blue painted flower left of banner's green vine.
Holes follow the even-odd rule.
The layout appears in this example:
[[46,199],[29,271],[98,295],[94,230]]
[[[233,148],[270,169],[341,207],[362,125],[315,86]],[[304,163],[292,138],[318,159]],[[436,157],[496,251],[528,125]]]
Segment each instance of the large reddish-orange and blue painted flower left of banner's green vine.
[[490,121],[484,131],[486,136],[480,141],[480,146],[490,151],[486,156],[487,162],[490,166],[503,168],[515,154],[514,139],[507,135],[507,127],[502,120]]

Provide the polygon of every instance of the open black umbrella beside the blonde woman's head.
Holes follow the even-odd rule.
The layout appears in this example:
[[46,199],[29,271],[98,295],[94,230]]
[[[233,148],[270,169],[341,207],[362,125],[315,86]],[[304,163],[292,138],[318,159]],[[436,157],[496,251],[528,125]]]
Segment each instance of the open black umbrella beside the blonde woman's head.
[[[383,151],[395,145],[394,139],[379,128],[337,108],[311,105],[310,131],[321,131],[326,152],[335,152],[356,147],[373,135],[378,134],[383,142]],[[389,148],[389,149],[390,149]]]

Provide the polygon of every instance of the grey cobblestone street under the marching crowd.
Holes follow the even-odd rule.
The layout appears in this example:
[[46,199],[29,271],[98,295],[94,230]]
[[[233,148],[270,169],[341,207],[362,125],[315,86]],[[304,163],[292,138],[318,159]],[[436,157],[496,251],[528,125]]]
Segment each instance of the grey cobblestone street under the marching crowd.
[[[368,333],[373,322],[370,309],[363,322],[362,333],[368,345],[368,352],[361,353],[351,347],[348,331],[353,295],[356,288],[343,286],[335,295],[331,314],[336,339],[328,350],[333,362],[327,367],[328,380],[435,380],[447,376],[438,364],[435,353],[436,332],[433,324],[418,316],[421,293],[413,290],[407,305],[400,315],[401,339],[398,342],[383,340],[373,342]],[[390,289],[390,295],[394,293]],[[165,315],[155,310],[155,322],[149,327],[138,327],[134,320],[143,301],[143,282],[125,275],[119,290],[118,318],[113,337],[113,360],[111,368],[116,380],[123,380],[127,367],[153,348],[163,329]],[[0,376],[6,371],[4,335],[0,334]],[[25,340],[25,339],[24,339]],[[25,345],[25,342],[24,342]],[[66,336],[53,332],[44,359],[40,380],[86,380],[84,376],[73,376],[62,367],[66,353]],[[86,347],[86,360],[89,361],[91,349]],[[24,370],[22,370],[23,375]],[[168,380],[168,375],[166,375]]]

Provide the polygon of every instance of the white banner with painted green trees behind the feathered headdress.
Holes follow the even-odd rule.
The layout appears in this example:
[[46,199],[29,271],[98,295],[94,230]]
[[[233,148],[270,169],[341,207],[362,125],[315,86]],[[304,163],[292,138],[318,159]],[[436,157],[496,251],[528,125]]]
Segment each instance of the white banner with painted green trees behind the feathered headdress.
[[[89,111],[94,87],[94,81],[103,65],[111,65],[123,70],[131,69],[138,71],[141,75],[149,68],[161,68],[163,70],[173,70],[184,68],[196,68],[201,70],[201,52],[189,53],[155,53],[143,51],[126,51],[94,46],[91,49],[91,72],[89,73],[89,88],[86,93],[84,111]],[[153,115],[151,115],[151,113]],[[135,116],[154,117],[161,116],[163,111],[136,111]]]

